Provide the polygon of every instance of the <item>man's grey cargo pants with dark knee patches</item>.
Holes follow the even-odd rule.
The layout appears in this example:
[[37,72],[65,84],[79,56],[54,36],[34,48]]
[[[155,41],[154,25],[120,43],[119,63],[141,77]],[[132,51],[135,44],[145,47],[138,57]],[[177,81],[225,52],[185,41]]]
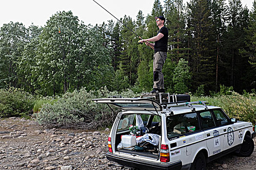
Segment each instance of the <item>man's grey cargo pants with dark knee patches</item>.
[[153,88],[163,89],[163,64],[167,58],[167,52],[158,51],[154,55],[153,71],[154,71],[154,85]]

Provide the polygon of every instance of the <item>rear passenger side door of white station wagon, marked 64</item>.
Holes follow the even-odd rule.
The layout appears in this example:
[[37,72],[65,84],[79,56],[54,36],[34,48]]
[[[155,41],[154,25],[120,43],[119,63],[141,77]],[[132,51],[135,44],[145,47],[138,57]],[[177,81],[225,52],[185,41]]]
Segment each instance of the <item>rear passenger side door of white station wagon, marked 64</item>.
[[206,110],[199,113],[201,126],[206,136],[206,144],[209,156],[220,153],[223,149],[222,127],[217,126],[213,112]]

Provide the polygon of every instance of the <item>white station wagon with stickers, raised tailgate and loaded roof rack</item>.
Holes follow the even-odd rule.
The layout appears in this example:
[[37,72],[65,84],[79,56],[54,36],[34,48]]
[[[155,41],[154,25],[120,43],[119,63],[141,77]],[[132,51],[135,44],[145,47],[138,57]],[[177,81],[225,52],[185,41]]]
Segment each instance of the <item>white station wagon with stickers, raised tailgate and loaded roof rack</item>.
[[220,107],[206,102],[178,101],[177,96],[168,94],[164,103],[161,96],[158,102],[149,98],[94,100],[122,110],[108,137],[107,159],[117,162],[110,166],[206,170],[207,162],[227,153],[253,153],[252,123],[230,119]]

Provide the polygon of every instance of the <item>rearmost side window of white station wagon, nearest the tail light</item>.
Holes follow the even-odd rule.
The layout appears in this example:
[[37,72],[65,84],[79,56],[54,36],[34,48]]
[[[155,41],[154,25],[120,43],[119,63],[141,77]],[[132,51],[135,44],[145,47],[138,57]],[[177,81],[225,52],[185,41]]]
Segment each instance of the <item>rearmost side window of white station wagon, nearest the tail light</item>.
[[166,128],[168,139],[198,131],[200,130],[200,127],[197,113],[167,117]]

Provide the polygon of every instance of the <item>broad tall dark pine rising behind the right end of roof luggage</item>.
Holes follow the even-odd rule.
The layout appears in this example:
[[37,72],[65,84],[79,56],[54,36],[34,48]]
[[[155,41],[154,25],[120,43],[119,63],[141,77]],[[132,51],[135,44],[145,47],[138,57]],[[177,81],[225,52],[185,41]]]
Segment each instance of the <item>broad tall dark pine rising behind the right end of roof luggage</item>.
[[190,10],[188,30],[192,49],[189,66],[193,72],[193,84],[195,87],[203,84],[208,90],[213,90],[215,84],[214,35],[210,3],[208,0],[191,0],[188,9]]

